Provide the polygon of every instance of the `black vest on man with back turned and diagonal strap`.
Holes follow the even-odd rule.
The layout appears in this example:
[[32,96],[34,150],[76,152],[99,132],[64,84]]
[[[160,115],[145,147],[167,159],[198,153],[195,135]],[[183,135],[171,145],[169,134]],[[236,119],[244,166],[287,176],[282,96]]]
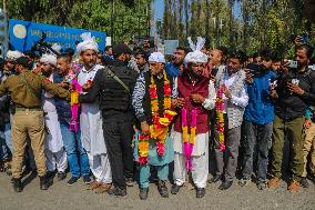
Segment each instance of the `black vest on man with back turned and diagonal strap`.
[[123,62],[114,61],[113,66],[108,67],[120,80],[129,87],[128,92],[115,79],[113,79],[105,70],[103,74],[103,87],[100,92],[101,109],[115,111],[132,111],[131,94],[134,89],[136,72],[129,69]]

